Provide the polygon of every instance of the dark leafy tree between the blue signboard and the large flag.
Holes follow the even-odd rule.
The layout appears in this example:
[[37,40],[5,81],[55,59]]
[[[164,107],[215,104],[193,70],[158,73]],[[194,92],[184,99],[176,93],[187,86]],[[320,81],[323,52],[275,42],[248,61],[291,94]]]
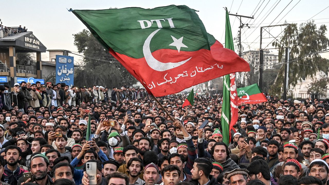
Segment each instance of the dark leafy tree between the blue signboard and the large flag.
[[74,36],[74,45],[85,55],[75,71],[74,85],[106,87],[132,86],[137,80],[84,29]]

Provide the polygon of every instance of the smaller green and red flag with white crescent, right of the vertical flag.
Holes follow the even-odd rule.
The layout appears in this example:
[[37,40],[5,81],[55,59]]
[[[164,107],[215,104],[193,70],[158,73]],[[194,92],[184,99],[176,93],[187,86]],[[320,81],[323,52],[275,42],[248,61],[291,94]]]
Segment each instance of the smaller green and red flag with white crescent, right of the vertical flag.
[[238,103],[254,104],[266,102],[267,99],[257,84],[238,89]]

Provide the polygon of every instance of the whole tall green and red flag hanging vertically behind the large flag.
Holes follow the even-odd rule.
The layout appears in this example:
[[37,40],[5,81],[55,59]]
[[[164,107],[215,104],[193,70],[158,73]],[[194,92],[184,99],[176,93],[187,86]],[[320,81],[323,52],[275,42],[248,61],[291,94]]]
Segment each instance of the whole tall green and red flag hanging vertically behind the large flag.
[[[225,24],[225,47],[234,51],[230,18],[227,10]],[[223,77],[222,100],[221,125],[223,132],[223,142],[228,145],[231,139],[231,130],[236,132],[233,129],[233,125],[238,122],[238,97],[235,85],[235,73],[231,73]]]

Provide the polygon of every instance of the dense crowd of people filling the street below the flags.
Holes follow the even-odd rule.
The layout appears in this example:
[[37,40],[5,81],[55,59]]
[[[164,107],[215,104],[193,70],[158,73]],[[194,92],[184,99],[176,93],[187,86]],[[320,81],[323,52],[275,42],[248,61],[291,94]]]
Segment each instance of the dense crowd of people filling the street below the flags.
[[217,95],[186,107],[185,95],[160,97],[162,109],[144,89],[10,89],[0,85],[1,185],[328,184],[328,100],[240,105],[227,145]]

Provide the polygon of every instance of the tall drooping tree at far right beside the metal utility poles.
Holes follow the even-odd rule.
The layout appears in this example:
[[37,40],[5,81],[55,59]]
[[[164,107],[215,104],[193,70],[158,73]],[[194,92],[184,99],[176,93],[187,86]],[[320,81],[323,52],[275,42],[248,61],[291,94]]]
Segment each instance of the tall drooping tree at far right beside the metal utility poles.
[[[301,78],[313,76],[316,71],[326,66],[326,60],[318,52],[324,50],[329,40],[325,36],[325,25],[316,27],[314,21],[306,24],[290,24],[281,40],[276,40],[272,46],[279,50],[279,61],[284,61],[285,49],[290,48],[289,85],[294,87]],[[284,63],[284,62],[283,62]],[[269,93],[280,95],[284,84],[284,64],[280,67],[276,79],[270,87]]]

